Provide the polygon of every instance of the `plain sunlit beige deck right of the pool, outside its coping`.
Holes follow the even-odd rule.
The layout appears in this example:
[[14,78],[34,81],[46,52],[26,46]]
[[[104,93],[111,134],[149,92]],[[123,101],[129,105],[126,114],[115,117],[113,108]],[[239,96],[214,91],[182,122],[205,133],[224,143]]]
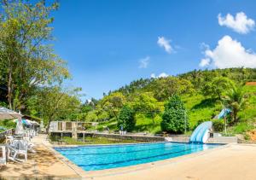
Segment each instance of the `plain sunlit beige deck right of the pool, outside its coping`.
[[[94,179],[256,179],[256,146],[232,144],[224,148],[189,154],[172,160],[162,160],[152,165],[140,166],[140,170],[110,176],[98,174]],[[96,174],[94,175],[96,176]]]

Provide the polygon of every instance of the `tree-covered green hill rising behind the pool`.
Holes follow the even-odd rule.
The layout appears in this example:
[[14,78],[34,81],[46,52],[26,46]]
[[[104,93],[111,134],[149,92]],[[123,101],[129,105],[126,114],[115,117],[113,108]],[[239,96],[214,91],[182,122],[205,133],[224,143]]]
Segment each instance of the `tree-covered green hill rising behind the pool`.
[[[218,77],[221,77],[221,80],[218,80]],[[212,79],[217,79],[217,81]],[[86,120],[98,120],[99,125],[97,125],[97,129],[100,131],[106,127],[111,131],[118,131],[116,125],[118,116],[115,116],[113,113],[118,114],[121,105],[114,105],[113,101],[116,98],[116,101],[124,101],[122,103],[130,104],[133,107],[144,107],[147,105],[145,108],[148,108],[148,111],[154,111],[154,108],[158,109],[158,113],[152,117],[150,112],[148,115],[147,111],[139,108],[135,116],[137,124],[133,131],[149,132],[152,134],[160,133],[160,122],[162,120],[161,115],[164,111],[164,104],[169,96],[178,94],[181,96],[187,109],[189,115],[188,133],[191,133],[199,122],[213,119],[220,113],[223,103],[218,99],[218,93],[214,95],[211,90],[207,89],[211,89],[215,85],[215,89],[218,90],[223,84],[222,81],[227,79],[227,83],[231,82],[236,84],[236,86],[241,86],[247,96],[247,105],[238,113],[238,122],[229,125],[228,132],[229,134],[246,134],[247,131],[255,128],[256,122],[256,86],[245,85],[245,82],[256,79],[255,69],[232,68],[194,71],[180,74],[176,77],[139,79],[121,87],[119,90],[110,91],[108,96],[104,96],[102,100],[96,102],[95,110],[90,112],[97,113],[96,118]],[[214,84],[214,82],[217,83]],[[224,87],[221,90],[220,93],[222,94],[220,96],[224,96],[229,91],[229,88]],[[108,108],[109,103],[112,103],[111,106],[113,107]],[[152,108],[153,110],[150,110]],[[102,115],[101,111],[108,112],[109,116],[106,116],[107,121],[105,119],[104,122],[101,122],[102,120],[99,119]]]

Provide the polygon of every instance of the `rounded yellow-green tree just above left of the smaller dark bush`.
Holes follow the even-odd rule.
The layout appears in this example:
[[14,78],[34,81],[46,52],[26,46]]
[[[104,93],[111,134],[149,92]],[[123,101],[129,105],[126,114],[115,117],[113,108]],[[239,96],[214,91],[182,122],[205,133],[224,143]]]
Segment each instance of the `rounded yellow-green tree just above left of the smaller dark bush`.
[[104,96],[100,102],[100,106],[109,113],[110,117],[118,119],[119,111],[124,106],[125,96],[120,92],[113,92],[108,96]]

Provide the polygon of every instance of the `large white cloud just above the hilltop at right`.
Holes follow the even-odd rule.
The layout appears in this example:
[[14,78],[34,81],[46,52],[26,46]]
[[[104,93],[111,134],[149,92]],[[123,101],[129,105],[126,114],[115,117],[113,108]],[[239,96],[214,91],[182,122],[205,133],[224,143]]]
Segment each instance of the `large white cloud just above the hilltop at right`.
[[[218,40],[215,49],[206,49],[201,67],[256,67],[256,54],[251,49],[245,49],[240,42],[230,36]],[[202,66],[204,65],[204,66]]]

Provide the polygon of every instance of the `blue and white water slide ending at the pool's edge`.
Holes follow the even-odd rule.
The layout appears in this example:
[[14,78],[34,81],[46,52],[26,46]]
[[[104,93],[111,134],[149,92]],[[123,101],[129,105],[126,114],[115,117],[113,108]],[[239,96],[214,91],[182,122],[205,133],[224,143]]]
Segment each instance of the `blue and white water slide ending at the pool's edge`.
[[189,142],[205,143],[209,138],[209,131],[212,129],[212,121],[206,121],[201,123],[195,128],[190,136]]

